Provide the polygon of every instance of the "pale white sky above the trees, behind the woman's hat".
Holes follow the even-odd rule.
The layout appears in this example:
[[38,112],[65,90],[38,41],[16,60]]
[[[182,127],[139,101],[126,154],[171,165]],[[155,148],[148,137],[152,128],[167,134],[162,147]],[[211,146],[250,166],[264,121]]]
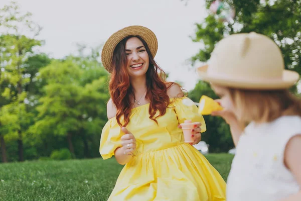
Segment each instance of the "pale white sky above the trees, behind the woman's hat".
[[[1,0],[0,7],[10,1]],[[169,80],[179,80],[187,90],[198,78],[186,60],[201,48],[189,36],[195,34],[195,23],[207,15],[204,0],[17,0],[23,11],[43,27],[39,39],[46,44],[41,51],[55,58],[76,52],[76,43],[89,46],[103,44],[115,31],[142,25],[158,38],[155,60],[168,73]],[[196,64],[196,66],[200,63]],[[195,66],[195,67],[196,67]],[[189,70],[191,69],[191,70]]]

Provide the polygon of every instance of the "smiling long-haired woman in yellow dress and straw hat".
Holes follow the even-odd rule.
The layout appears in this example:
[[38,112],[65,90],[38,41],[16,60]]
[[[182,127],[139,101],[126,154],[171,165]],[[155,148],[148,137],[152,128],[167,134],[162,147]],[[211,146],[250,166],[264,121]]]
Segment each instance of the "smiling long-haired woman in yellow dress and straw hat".
[[206,125],[180,86],[164,81],[157,48],[156,35],[141,26],[117,31],[103,46],[111,99],[100,154],[125,164],[109,200],[225,200],[220,174],[184,143],[179,124],[195,122],[192,144]]

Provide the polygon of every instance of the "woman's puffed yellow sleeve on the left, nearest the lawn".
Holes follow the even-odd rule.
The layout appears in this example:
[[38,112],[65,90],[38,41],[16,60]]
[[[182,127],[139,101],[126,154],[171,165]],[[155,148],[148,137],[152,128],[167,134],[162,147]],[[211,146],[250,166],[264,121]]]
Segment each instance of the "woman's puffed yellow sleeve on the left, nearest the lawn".
[[121,128],[116,118],[110,119],[102,129],[100,137],[99,153],[103,159],[111,158],[114,151],[121,147]]

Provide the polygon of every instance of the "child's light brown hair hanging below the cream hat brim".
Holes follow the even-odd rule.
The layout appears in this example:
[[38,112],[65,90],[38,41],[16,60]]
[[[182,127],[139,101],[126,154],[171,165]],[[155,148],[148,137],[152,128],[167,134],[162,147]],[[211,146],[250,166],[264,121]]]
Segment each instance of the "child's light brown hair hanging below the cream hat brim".
[[228,88],[241,124],[272,122],[281,116],[300,116],[301,100],[289,90],[243,90]]

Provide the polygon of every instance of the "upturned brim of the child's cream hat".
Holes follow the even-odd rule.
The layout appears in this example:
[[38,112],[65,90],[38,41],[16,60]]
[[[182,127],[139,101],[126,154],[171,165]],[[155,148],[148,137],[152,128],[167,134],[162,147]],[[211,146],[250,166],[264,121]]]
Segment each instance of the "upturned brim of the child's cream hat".
[[208,65],[197,68],[197,74],[202,80],[226,87],[241,88],[241,89],[286,89],[294,85],[299,74],[292,70],[284,70],[282,79],[250,79],[244,77],[226,77],[226,76],[211,76],[207,73]]

